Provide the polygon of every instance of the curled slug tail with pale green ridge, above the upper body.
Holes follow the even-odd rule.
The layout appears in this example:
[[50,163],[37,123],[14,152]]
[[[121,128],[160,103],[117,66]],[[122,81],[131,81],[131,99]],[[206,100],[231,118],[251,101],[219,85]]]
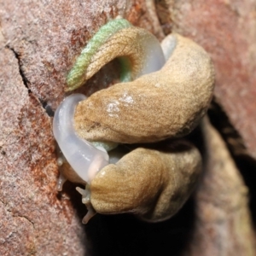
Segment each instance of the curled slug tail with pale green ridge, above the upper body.
[[121,63],[123,82],[137,79],[163,67],[165,57],[158,40],[149,32],[116,19],[102,26],[82,50],[67,76],[67,89],[85,84],[104,65],[115,58]]

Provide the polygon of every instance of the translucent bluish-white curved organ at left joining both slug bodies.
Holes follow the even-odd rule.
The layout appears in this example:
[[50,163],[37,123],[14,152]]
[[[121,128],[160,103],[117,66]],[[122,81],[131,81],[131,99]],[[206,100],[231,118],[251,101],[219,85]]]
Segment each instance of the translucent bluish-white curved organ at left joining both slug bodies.
[[[53,132],[55,140],[64,155],[63,176],[72,176],[72,180],[90,183],[103,166],[108,165],[108,153],[104,149],[95,148],[91,143],[77,136],[73,127],[73,114],[77,104],[85,100],[82,94],[73,94],[65,98],[55,112],[53,121]],[[70,166],[64,162],[67,160]],[[68,172],[67,168],[69,168]],[[75,173],[67,174],[72,169]],[[74,176],[78,176],[74,177]],[[68,178],[68,177],[67,177]],[[60,188],[61,189],[61,188]]]

